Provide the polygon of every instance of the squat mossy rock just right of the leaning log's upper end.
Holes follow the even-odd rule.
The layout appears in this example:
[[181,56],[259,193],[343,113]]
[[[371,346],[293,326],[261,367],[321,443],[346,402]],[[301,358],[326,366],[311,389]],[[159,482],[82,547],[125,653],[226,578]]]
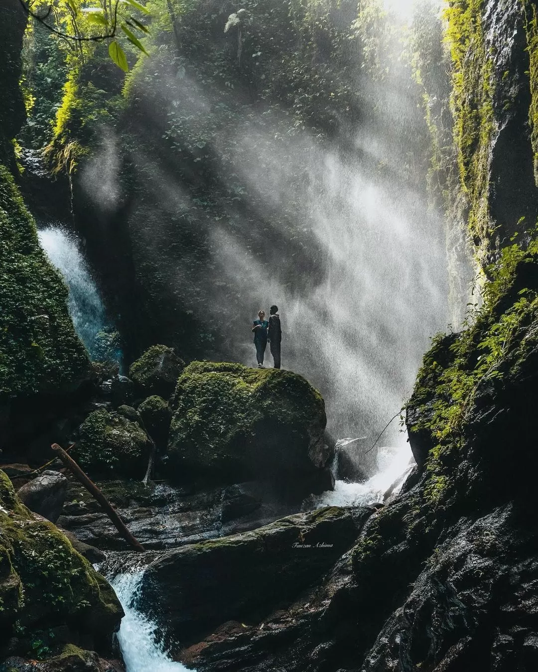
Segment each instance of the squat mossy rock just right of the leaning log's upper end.
[[79,427],[74,455],[92,474],[142,478],[151,448],[150,438],[138,423],[99,409]]

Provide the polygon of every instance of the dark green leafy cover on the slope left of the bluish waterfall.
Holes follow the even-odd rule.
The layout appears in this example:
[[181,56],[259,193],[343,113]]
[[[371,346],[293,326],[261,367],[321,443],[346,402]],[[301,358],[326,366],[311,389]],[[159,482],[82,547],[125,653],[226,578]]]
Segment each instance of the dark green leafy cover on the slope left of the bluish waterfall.
[[0,403],[76,386],[89,361],[13,177],[0,165]]

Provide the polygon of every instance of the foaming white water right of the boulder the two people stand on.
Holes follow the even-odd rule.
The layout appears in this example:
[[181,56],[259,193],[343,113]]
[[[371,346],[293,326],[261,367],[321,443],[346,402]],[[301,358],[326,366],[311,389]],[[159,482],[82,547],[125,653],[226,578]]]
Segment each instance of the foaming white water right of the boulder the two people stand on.
[[414,464],[409,444],[399,448],[385,446],[377,451],[377,471],[360,483],[337,480],[334,491],[322,493],[316,500],[318,508],[324,506],[367,506],[383,502],[387,491],[396,483],[391,494],[396,495],[404,485],[406,472]]

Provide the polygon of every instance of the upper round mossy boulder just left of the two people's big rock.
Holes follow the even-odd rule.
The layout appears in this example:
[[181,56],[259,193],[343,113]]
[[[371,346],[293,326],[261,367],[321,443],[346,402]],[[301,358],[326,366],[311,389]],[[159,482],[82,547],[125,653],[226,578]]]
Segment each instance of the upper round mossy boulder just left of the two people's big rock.
[[152,345],[131,364],[129,376],[146,395],[157,394],[167,399],[173,394],[177,378],[184,368],[185,362],[173,348]]

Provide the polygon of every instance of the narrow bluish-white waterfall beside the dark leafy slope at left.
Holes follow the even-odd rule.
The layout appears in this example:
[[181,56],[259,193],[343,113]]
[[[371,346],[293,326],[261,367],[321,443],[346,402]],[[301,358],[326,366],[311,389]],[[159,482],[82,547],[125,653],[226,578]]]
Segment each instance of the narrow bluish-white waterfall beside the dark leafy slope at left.
[[41,247],[69,287],[68,308],[75,331],[87,351],[95,355],[95,335],[105,327],[105,307],[75,236],[60,226],[38,231]]

